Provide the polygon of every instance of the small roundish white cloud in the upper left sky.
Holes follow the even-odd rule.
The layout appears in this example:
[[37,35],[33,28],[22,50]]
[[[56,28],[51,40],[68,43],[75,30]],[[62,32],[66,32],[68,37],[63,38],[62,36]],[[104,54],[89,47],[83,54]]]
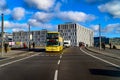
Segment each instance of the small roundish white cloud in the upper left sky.
[[12,11],[12,18],[15,20],[21,20],[25,16],[25,9],[22,7],[16,7]]

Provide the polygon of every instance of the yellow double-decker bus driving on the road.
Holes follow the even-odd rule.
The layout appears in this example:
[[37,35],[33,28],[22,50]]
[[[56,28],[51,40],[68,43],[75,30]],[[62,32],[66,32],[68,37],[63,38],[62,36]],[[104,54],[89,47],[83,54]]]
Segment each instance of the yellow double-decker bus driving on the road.
[[46,36],[46,51],[61,51],[63,50],[63,38],[59,32],[47,32]]

